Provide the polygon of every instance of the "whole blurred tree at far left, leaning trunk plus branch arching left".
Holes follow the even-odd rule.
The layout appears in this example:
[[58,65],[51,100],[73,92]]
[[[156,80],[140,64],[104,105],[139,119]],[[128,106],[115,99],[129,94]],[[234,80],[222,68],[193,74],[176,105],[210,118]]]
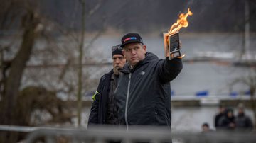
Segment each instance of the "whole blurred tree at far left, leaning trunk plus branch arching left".
[[[9,1],[5,2],[4,11],[1,11],[1,29],[10,28],[10,25],[21,25],[23,35],[18,52],[5,69],[2,78],[3,87],[0,103],[0,124],[16,125],[18,118],[15,117],[18,108],[18,91],[21,85],[23,71],[26,62],[31,56],[34,42],[37,38],[40,18],[36,12],[35,4],[31,1]],[[21,13],[18,13],[21,12]],[[20,23],[18,23],[20,21]],[[3,56],[2,56],[3,57]],[[3,58],[2,58],[3,59]],[[4,63],[3,61],[1,63]],[[8,71],[6,69],[8,68]],[[16,133],[2,133],[0,142],[16,142]]]

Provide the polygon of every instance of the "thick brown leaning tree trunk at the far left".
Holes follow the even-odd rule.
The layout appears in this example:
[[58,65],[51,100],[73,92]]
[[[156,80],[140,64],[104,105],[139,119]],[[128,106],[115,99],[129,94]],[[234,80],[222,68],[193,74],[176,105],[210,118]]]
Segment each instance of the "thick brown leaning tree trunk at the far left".
[[4,96],[1,100],[1,118],[0,124],[14,125],[15,120],[13,118],[14,110],[16,109],[16,100],[18,96],[19,86],[21,84],[22,74],[26,68],[26,62],[28,61],[33,44],[36,39],[36,27],[39,21],[33,11],[26,11],[25,16],[22,19],[22,25],[24,28],[21,47],[19,48],[16,56],[11,62],[9,74],[4,84]]

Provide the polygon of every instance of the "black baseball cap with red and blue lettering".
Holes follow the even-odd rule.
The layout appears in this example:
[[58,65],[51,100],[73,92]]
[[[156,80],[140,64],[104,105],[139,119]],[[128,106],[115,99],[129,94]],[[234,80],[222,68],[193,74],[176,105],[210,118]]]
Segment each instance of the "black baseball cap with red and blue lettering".
[[128,33],[122,37],[122,45],[121,47],[124,47],[124,45],[127,45],[132,42],[140,42],[143,44],[142,37],[138,33]]

